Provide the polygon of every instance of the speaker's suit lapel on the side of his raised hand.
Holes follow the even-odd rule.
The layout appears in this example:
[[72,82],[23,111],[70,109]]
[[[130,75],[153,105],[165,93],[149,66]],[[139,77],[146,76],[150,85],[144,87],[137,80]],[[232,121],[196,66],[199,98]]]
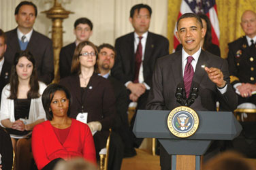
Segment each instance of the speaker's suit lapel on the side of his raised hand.
[[[193,76],[193,82],[197,82],[198,84],[200,84],[200,82],[202,81],[202,78],[206,74],[206,71],[204,70],[202,65],[204,65],[206,67],[210,67],[210,63],[208,63],[208,56],[205,54],[205,52],[203,50],[201,51],[201,54],[199,55],[197,65],[195,67],[195,73]],[[192,84],[192,86],[193,86],[193,84]]]

